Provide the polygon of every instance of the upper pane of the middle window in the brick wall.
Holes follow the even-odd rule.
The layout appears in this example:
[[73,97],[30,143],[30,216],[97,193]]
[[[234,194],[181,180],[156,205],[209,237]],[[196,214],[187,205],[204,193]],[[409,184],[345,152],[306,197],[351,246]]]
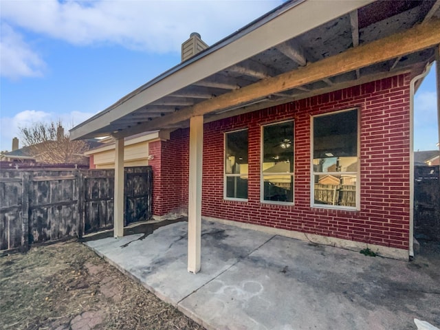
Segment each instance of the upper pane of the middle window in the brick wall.
[[294,172],[294,122],[263,127],[263,173]]

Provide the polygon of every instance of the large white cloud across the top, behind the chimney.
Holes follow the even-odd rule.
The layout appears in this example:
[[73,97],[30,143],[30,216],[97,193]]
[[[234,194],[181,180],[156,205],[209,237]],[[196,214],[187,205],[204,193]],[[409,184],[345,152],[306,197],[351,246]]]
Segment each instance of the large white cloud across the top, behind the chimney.
[[179,51],[190,32],[214,43],[281,1],[3,1],[10,24],[75,45]]

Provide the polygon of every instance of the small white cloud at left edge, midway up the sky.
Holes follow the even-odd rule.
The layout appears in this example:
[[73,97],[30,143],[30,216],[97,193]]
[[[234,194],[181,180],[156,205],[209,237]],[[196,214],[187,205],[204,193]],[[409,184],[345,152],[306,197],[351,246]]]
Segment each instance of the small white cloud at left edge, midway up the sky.
[[18,79],[19,77],[41,76],[44,61],[24,41],[21,34],[14,32],[10,25],[0,26],[0,74]]

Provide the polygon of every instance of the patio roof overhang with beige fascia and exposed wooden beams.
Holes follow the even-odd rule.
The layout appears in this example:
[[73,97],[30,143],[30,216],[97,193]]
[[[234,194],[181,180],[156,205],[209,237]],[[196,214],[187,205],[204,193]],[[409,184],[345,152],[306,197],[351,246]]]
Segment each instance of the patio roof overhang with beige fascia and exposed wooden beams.
[[440,1],[288,1],[70,133],[121,139],[419,74],[439,43]]

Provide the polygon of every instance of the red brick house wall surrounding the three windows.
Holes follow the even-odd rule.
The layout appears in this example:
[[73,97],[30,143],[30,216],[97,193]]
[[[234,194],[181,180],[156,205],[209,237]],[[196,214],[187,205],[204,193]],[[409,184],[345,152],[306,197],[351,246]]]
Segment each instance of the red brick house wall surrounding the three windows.
[[[202,214],[274,228],[296,230],[340,239],[408,248],[409,234],[409,81],[408,75],[377,80],[297,102],[263,109],[204,126]],[[359,107],[360,124],[360,211],[310,207],[310,120],[311,115]],[[260,202],[261,124],[295,120],[294,206]],[[223,133],[248,128],[248,201],[223,200]],[[181,135],[179,135],[181,134]],[[180,205],[188,201],[188,130],[179,132],[162,151],[177,153],[181,162],[166,167],[160,192],[175,206],[181,184]],[[177,140],[181,138],[181,140]],[[164,142],[162,142],[164,143]],[[152,154],[152,151],[151,151]],[[156,155],[155,155],[156,157]],[[169,157],[169,156],[168,156]],[[162,174],[164,174],[162,172]],[[155,178],[157,173],[155,173]],[[156,185],[155,185],[156,187]],[[157,190],[155,190],[155,193]],[[159,198],[159,197],[157,197]],[[156,199],[155,199],[156,201]]]

